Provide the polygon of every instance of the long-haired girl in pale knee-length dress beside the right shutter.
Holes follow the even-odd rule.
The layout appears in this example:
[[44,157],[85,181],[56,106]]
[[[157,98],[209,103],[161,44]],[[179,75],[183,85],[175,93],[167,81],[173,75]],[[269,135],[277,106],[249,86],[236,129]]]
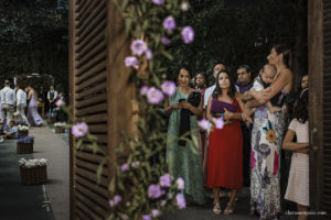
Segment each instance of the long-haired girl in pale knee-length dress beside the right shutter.
[[[295,134],[297,142],[293,142]],[[293,151],[285,199],[298,207],[298,219],[306,220],[309,207],[309,122],[308,89],[302,90],[291,121],[282,142],[282,148]]]

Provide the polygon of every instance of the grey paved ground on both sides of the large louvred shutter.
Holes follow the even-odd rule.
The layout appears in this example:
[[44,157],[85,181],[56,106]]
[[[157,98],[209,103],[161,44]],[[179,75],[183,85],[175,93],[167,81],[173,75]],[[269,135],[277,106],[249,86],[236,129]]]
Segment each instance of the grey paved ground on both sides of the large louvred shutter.
[[[32,128],[35,136],[33,154],[17,154],[17,141],[0,143],[0,220],[68,220],[70,219],[70,154],[68,135],[55,134],[52,127]],[[20,182],[18,161],[21,158],[47,158],[49,182],[45,185],[26,186]],[[211,191],[210,191],[211,193]],[[249,216],[249,189],[238,193],[235,213],[216,216],[212,200],[203,206],[189,206],[184,210],[169,212],[162,220],[256,220]],[[50,201],[51,206],[45,201]],[[222,209],[228,198],[222,199]],[[292,220],[296,216],[282,216]]]

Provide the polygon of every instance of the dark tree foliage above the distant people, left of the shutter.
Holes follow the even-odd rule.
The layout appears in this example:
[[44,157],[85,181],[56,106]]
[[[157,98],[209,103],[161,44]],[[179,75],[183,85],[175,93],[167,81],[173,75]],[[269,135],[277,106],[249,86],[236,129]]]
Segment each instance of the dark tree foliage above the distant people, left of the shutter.
[[0,82],[49,74],[67,91],[67,0],[2,0],[0,6]]

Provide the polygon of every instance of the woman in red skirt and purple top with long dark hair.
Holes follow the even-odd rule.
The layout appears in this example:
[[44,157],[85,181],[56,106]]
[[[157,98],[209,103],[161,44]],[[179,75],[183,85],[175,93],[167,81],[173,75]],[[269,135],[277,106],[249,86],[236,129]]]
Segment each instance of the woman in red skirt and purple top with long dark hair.
[[[231,189],[225,215],[234,212],[235,195],[243,186],[243,134],[241,129],[244,105],[241,94],[236,92],[234,80],[228,70],[217,74],[216,88],[209,99],[206,117],[213,123],[210,133],[207,158],[207,187],[213,188],[216,215],[220,207],[220,187]],[[224,127],[215,127],[216,118],[223,117]]]

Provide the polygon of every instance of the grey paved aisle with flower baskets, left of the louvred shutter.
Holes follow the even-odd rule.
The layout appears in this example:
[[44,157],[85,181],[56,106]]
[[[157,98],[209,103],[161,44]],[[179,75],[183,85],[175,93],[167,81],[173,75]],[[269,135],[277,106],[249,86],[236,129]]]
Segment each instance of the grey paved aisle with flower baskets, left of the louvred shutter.
[[[52,128],[31,128],[33,154],[17,154],[17,141],[0,143],[0,220],[68,220],[70,155],[67,133]],[[49,182],[28,186],[20,180],[20,158],[47,158]],[[49,205],[49,206],[47,206]]]

